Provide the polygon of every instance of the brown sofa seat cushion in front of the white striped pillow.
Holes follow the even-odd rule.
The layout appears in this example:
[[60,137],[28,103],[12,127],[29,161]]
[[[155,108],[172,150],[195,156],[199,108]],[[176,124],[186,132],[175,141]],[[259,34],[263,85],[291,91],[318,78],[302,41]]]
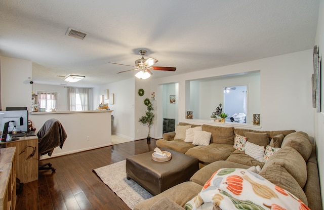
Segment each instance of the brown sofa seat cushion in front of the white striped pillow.
[[217,160],[226,160],[234,150],[233,145],[210,144],[190,148],[185,154],[198,158],[201,162],[211,163]]

